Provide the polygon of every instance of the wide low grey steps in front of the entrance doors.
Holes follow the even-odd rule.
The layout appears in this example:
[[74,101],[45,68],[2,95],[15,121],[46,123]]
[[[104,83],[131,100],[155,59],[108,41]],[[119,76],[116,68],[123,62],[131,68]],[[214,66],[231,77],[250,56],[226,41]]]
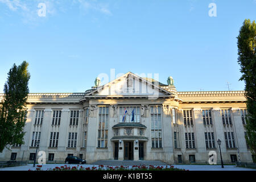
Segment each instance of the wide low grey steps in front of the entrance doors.
[[152,166],[165,166],[166,163],[160,160],[98,160],[92,163],[93,165],[104,165],[104,166],[142,166],[142,165],[152,165]]

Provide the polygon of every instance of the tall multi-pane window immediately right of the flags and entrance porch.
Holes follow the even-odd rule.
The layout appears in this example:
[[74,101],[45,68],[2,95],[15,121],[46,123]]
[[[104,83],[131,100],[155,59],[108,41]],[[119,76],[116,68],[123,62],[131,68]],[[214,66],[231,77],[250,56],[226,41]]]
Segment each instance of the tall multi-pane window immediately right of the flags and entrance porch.
[[162,148],[162,119],[161,107],[151,106],[151,140],[152,148]]

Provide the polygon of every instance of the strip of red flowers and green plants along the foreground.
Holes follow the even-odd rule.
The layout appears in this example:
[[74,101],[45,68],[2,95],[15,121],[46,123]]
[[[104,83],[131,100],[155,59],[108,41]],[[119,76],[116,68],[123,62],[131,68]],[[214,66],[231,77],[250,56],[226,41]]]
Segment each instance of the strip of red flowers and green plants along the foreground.
[[[36,171],[41,171],[42,165],[36,166]],[[29,170],[31,171],[31,170]],[[77,166],[60,166],[49,168],[47,171],[188,171],[185,169],[174,168],[174,166],[97,166],[97,167],[83,167]]]

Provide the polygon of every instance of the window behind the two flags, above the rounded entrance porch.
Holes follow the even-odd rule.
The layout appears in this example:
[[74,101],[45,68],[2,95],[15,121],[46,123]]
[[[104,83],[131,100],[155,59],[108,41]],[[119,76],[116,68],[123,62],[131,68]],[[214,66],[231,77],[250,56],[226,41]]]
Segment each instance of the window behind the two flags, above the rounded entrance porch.
[[141,107],[122,106],[119,107],[119,122],[137,122],[141,119]]

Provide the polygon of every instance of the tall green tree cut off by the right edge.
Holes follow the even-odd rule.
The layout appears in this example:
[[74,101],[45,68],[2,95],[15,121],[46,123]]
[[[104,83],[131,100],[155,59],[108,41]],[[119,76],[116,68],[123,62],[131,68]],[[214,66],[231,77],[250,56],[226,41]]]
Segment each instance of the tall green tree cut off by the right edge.
[[238,42],[238,64],[241,65],[242,77],[240,80],[245,81],[246,96],[246,140],[249,144],[251,153],[256,161],[256,102],[255,102],[255,77],[256,77],[256,26],[255,20],[245,19],[237,37]]

